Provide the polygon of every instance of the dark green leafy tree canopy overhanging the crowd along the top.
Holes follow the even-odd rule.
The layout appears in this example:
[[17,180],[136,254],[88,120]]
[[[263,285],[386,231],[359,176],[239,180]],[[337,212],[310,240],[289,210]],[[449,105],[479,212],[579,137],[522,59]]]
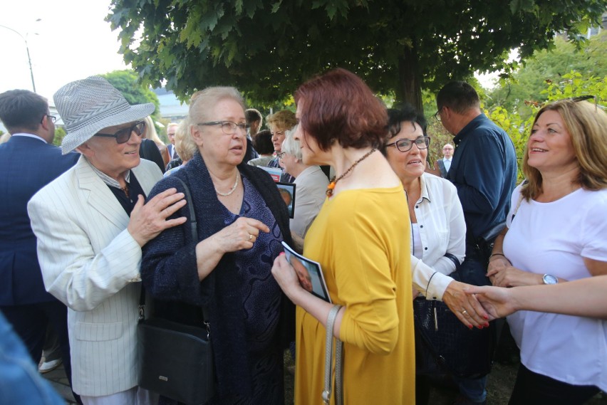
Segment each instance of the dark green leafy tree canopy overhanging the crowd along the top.
[[234,85],[266,105],[335,67],[422,107],[422,88],[507,68],[554,32],[597,22],[605,0],[113,0],[126,63],[182,99]]

